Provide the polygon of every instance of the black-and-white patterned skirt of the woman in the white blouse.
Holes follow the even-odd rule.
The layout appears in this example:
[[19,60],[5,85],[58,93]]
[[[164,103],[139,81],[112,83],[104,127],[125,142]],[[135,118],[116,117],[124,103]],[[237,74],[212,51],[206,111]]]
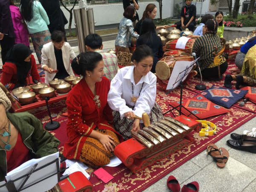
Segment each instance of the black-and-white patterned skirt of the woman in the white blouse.
[[[127,105],[129,108],[134,109],[134,106]],[[154,107],[151,109],[149,114],[150,123],[158,122],[160,119],[163,119],[163,113],[160,106],[155,102]],[[123,118],[121,119],[119,111],[113,111],[113,125],[115,130],[122,135],[124,140],[128,140],[132,137],[131,129],[134,120]],[[140,123],[140,128],[144,126],[143,123]]]

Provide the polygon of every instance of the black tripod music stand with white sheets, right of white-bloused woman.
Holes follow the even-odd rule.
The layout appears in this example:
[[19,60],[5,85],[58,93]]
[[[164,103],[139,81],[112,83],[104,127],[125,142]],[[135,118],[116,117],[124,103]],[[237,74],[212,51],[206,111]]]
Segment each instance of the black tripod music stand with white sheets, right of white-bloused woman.
[[[168,93],[170,93],[172,90],[174,90],[177,86],[180,86],[180,105],[178,105],[177,107],[175,107],[175,108],[172,108],[171,110],[169,110],[169,111],[167,111],[166,113],[169,113],[169,112],[172,112],[174,109],[176,109],[177,110],[177,108],[179,107],[180,109],[179,110],[177,110],[177,111],[179,111],[179,115],[181,115],[181,109],[182,108],[184,108],[186,111],[188,111],[189,112],[189,115],[193,115],[193,116],[195,116],[196,118],[198,118],[198,119],[200,119],[198,116],[196,116],[194,113],[192,113],[191,111],[189,111],[187,108],[185,108],[183,105],[182,105],[182,94],[183,94],[183,81],[185,81],[185,79],[187,78],[187,76],[189,75],[189,73],[192,71],[192,68],[193,68],[193,66],[194,66],[194,64],[195,64],[195,62],[196,62],[197,60],[195,60],[195,61],[192,61],[189,65],[187,65],[187,66],[185,66],[185,67],[183,67],[183,68],[178,68],[178,67],[175,67],[176,65],[177,65],[177,63],[175,64],[175,66],[174,66],[174,68],[173,68],[173,70],[172,70],[172,75],[173,76],[177,76],[177,77],[175,77],[176,79],[175,79],[175,82],[174,83],[172,83],[171,81],[172,81],[172,75],[171,75],[171,77],[170,77],[170,79],[169,79],[169,83],[168,83],[168,85],[170,85],[170,89],[166,92],[166,94],[168,94]],[[179,61],[179,62],[184,62],[184,61]],[[176,75],[177,74],[177,75]],[[172,78],[172,79],[171,79]],[[169,87],[167,85],[167,87]],[[170,104],[169,104],[170,105]],[[170,106],[172,106],[172,105],[170,105]],[[163,115],[165,115],[166,113],[163,113]],[[172,114],[173,114],[173,116],[175,116],[175,114],[172,112]],[[188,115],[188,116],[189,116]]]

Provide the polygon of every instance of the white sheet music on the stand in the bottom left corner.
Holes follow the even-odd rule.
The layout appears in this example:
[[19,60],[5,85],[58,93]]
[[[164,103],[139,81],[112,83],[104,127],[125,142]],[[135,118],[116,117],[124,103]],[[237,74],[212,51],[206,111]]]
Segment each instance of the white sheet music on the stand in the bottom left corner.
[[[45,157],[42,157],[40,159],[32,159],[25,163],[23,163],[21,166],[17,167],[16,169],[12,170],[11,172],[7,173],[6,180],[15,180],[19,177],[22,177],[23,175],[27,175],[31,172],[33,166],[37,163],[35,169],[38,169],[47,163],[50,163],[59,157],[59,152],[55,154],[51,154]],[[49,166],[46,166],[42,169],[40,169],[37,172],[32,173],[32,175],[29,177],[29,179],[26,181],[26,184],[23,186],[25,188],[26,186],[29,186],[32,183],[36,183],[37,181],[48,177],[49,175],[52,175],[54,173],[57,173],[57,167],[56,163],[52,163]],[[26,177],[21,178],[20,180],[17,180],[14,182],[16,189],[19,189],[23,181],[26,179]],[[45,192],[49,189],[52,189],[56,184],[58,183],[58,175],[55,174],[52,177],[49,177],[40,183],[37,183],[36,185],[32,185],[31,187],[21,190],[26,192]]]

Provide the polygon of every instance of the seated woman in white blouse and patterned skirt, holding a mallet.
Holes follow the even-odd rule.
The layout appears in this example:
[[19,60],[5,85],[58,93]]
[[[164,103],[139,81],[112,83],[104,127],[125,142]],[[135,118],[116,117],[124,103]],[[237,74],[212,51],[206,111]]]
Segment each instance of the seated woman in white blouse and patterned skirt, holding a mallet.
[[144,127],[139,119],[134,120],[134,115],[148,113],[150,122],[163,118],[155,102],[157,77],[150,72],[153,57],[147,45],[137,47],[132,55],[134,66],[123,67],[111,81],[108,105],[113,109],[113,125],[125,140],[132,137],[131,132]]

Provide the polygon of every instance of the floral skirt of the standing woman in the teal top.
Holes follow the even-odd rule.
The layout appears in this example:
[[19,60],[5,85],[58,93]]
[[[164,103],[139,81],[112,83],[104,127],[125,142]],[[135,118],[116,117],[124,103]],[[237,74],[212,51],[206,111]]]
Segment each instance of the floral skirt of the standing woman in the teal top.
[[51,42],[51,33],[49,30],[30,34],[33,47],[35,49],[38,62],[41,64],[41,55],[44,44]]

